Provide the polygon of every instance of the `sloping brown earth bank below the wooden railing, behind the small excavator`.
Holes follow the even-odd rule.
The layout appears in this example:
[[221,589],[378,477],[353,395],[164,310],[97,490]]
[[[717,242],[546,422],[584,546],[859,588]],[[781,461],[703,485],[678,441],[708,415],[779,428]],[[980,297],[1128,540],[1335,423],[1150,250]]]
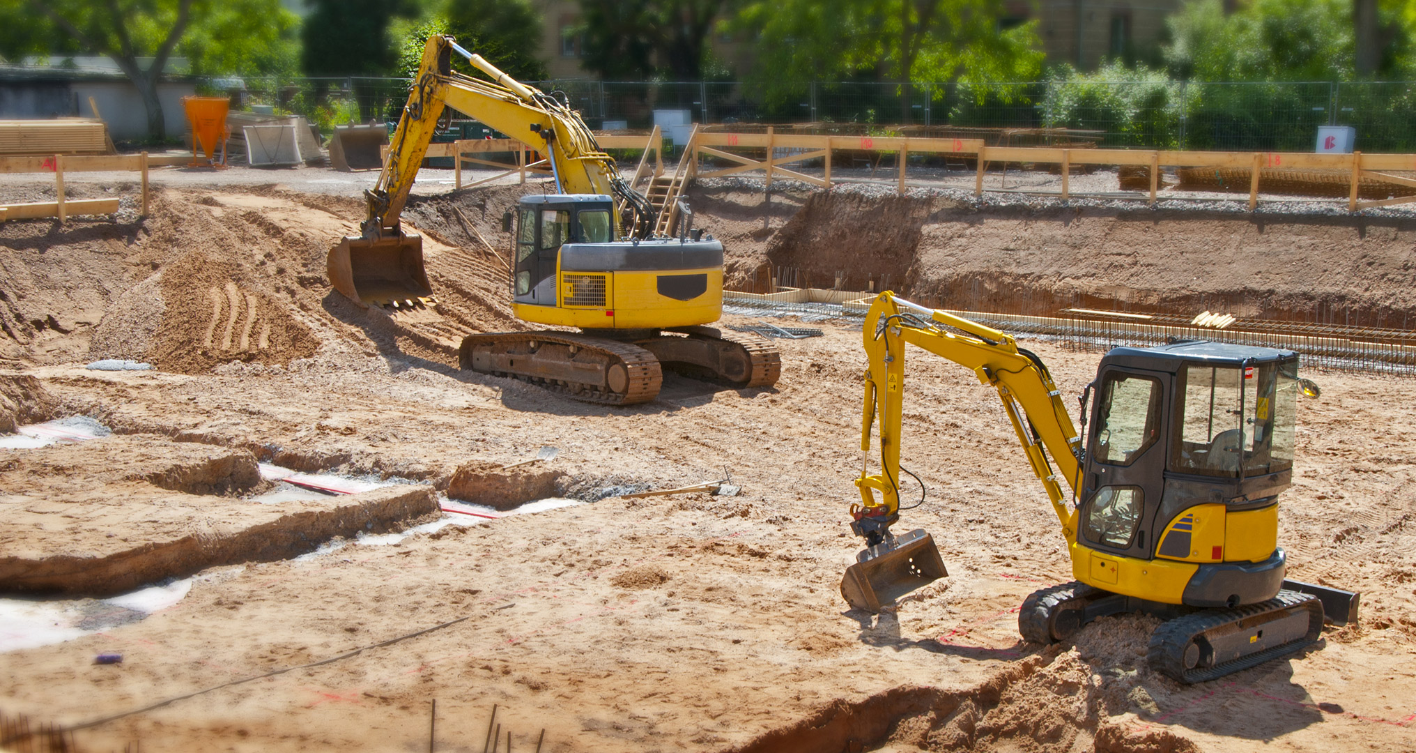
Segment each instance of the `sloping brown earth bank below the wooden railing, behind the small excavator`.
[[[714,218],[704,224],[712,227]],[[1222,311],[1304,322],[1416,323],[1416,220],[986,207],[814,193],[758,264],[803,286],[885,286],[946,308]]]

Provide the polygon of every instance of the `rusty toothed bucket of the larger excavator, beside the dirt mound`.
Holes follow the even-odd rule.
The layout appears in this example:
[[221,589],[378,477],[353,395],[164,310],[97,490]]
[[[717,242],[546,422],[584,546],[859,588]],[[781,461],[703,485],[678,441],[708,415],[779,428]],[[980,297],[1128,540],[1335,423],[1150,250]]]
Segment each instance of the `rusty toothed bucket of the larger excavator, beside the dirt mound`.
[[330,284],[361,306],[416,305],[432,295],[423,269],[423,237],[346,235],[327,258]]

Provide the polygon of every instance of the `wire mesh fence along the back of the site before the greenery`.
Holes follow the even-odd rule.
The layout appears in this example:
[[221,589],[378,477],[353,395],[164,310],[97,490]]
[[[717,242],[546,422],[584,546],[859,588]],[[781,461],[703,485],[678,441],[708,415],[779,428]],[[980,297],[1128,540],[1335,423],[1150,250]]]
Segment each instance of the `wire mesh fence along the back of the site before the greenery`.
[[[221,81],[219,84],[227,84]],[[219,94],[218,81],[204,84]],[[1416,152],[1416,82],[1045,81],[1025,84],[801,84],[766,95],[739,82],[537,81],[565,92],[592,128],[653,125],[656,109],[698,123],[823,123],[881,135],[912,126],[1097,132],[1103,147],[1310,152],[1317,128],[1357,129],[1362,152]],[[408,96],[398,78],[249,78],[238,109],[270,108],[334,123],[395,121]],[[826,125],[833,123],[833,125]]]

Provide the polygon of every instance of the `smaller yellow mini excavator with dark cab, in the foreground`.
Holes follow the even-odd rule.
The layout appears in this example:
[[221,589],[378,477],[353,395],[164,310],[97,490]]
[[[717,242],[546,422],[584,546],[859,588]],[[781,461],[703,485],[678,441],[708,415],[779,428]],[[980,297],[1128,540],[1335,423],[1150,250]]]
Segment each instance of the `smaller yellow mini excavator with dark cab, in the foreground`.
[[1293,476],[1298,393],[1317,394],[1297,376],[1297,353],[1214,342],[1116,347],[1082,393],[1082,428],[1092,427],[1083,440],[1042,359],[1010,335],[882,292],[864,342],[861,450],[878,427],[881,472],[862,468],[855,481],[851,529],[867,549],[841,580],[852,607],[879,611],[947,574],[927,533],[889,530],[901,511],[913,345],[998,391],[1062,526],[1076,580],[1022,603],[1027,641],[1056,642],[1099,617],[1144,611],[1164,620],[1151,666],[1201,682],[1298,651],[1324,621],[1357,621],[1359,594],[1284,580],[1279,493]]

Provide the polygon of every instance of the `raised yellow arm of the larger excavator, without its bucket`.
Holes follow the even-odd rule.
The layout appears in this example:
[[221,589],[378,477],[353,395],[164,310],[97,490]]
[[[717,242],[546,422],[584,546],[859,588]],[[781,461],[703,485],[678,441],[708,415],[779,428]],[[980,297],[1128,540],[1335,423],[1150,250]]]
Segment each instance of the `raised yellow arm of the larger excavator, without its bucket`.
[[[453,52],[466,57],[496,84],[453,72]],[[452,37],[433,35],[423,47],[418,78],[394,132],[388,162],[378,184],[367,194],[365,237],[398,233],[398,217],[408,191],[428,153],[438,119],[447,106],[545,153],[559,193],[613,194],[634,203],[636,211],[647,207],[641,196],[623,184],[615,159],[599,149],[595,135],[573,108],[515,81],[481,55],[459,47]]]

